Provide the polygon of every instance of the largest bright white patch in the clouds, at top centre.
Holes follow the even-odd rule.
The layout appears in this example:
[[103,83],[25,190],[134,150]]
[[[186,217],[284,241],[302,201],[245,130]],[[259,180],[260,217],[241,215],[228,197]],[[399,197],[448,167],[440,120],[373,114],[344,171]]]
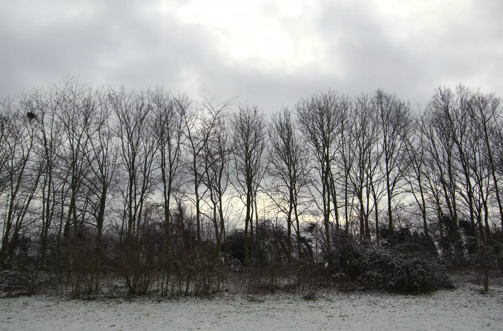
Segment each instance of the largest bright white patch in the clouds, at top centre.
[[319,8],[312,2],[192,1],[181,6],[162,2],[159,9],[208,30],[215,36],[215,48],[231,65],[286,73],[337,68],[316,33]]

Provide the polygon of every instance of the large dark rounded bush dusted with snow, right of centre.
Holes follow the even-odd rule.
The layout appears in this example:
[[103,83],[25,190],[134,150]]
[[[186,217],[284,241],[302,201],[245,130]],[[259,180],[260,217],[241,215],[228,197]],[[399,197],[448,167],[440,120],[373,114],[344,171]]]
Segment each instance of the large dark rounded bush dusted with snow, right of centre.
[[[412,239],[413,236],[411,235]],[[417,237],[418,238],[418,237]],[[449,285],[447,269],[427,239],[360,244],[348,235],[334,240],[327,256],[332,279],[348,287],[358,284],[367,289],[418,291]]]

